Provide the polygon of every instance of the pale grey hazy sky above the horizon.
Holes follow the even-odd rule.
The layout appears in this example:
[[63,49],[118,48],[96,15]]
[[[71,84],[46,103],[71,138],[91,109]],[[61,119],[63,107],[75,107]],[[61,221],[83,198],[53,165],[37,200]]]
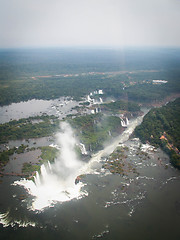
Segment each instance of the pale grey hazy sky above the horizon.
[[180,0],[0,0],[0,48],[179,46]]

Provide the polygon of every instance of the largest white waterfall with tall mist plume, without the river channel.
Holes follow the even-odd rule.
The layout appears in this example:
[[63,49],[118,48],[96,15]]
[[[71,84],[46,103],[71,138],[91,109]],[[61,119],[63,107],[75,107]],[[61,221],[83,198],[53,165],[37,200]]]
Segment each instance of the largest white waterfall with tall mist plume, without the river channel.
[[15,184],[24,186],[35,197],[31,209],[42,210],[55,202],[69,201],[80,198],[85,192],[81,191],[83,184],[75,184],[79,169],[83,163],[75,155],[76,140],[73,131],[67,123],[61,124],[62,132],[57,134],[57,144],[60,155],[55,163],[41,166],[40,174],[37,172],[34,181],[20,180]]

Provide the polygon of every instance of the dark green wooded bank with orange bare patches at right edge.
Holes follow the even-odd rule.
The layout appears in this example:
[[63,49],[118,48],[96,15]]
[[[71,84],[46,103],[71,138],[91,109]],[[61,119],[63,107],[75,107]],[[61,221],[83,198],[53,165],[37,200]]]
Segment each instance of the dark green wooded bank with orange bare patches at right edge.
[[180,168],[180,98],[152,109],[135,129],[135,135],[142,142],[161,146],[169,153],[171,162]]

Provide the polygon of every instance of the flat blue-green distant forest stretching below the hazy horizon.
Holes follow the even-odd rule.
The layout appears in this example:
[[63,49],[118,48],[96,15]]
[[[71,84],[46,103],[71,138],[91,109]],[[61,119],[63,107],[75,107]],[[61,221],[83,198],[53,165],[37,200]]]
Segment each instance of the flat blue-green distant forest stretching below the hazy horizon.
[[[105,96],[132,101],[161,100],[180,92],[179,52],[178,49],[1,51],[0,105],[33,98],[72,96],[79,99],[96,89],[103,89]],[[113,74],[117,71],[125,72]],[[89,72],[104,74],[58,76]],[[153,79],[164,79],[168,83],[153,85]]]

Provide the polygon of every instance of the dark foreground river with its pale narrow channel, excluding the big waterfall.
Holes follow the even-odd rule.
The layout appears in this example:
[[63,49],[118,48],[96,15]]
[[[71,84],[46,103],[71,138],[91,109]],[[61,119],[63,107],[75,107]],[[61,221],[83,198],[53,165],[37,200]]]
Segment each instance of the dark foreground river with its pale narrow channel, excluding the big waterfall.
[[[1,239],[179,239],[180,172],[160,149],[129,139],[142,117],[130,121],[114,142],[85,164],[81,198],[32,210],[33,196],[17,177],[0,184]],[[116,146],[127,146],[126,161],[136,173],[111,174],[103,168]],[[137,154],[139,149],[146,158]]]

